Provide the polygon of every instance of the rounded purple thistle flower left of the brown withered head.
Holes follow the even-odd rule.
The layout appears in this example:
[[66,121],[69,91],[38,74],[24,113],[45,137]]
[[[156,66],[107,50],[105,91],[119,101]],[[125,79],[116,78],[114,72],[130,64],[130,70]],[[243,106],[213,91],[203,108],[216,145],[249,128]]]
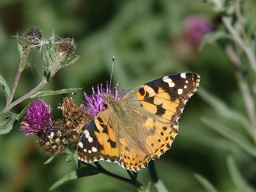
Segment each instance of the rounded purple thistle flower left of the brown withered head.
[[44,101],[32,102],[23,117],[21,130],[26,131],[27,134],[39,134],[46,130],[54,130],[50,112],[50,106],[47,106]]

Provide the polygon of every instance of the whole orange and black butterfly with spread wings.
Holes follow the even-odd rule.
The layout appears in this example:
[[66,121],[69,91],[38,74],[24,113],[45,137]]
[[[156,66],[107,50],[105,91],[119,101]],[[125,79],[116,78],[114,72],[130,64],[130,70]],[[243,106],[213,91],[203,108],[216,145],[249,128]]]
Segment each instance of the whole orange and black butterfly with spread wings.
[[78,159],[118,162],[134,171],[158,159],[178,134],[178,118],[199,80],[194,73],[174,74],[138,86],[122,98],[106,94],[106,108],[78,143]]

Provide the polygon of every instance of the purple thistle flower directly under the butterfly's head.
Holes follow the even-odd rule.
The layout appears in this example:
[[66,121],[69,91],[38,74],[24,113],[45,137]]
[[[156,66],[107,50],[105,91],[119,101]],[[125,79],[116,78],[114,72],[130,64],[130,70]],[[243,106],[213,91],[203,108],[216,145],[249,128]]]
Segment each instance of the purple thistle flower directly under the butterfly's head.
[[[103,110],[106,107],[106,103],[104,102],[104,94],[111,94],[109,83],[106,82],[106,90],[103,88],[102,83],[101,85],[97,86],[97,93],[94,90],[94,87],[92,87],[93,94],[91,96],[88,96],[86,93],[85,98],[85,108],[86,110],[89,110],[90,115],[93,117],[98,114],[99,111]],[[116,86],[114,86],[114,98],[122,98],[124,95],[125,89],[122,90],[122,93],[118,93],[118,83]]]

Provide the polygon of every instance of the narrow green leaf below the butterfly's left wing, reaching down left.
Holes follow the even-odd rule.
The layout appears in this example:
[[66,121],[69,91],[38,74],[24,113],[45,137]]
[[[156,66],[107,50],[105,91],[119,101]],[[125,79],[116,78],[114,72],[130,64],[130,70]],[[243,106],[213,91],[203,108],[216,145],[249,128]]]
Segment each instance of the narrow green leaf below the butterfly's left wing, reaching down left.
[[83,178],[91,175],[99,174],[99,171],[94,166],[86,166],[82,167],[79,170],[74,170],[69,174],[66,174],[63,178],[59,179],[57,182],[54,182],[52,186],[50,186],[50,190],[55,190],[58,186],[61,186],[63,183],[68,182],[70,180]]

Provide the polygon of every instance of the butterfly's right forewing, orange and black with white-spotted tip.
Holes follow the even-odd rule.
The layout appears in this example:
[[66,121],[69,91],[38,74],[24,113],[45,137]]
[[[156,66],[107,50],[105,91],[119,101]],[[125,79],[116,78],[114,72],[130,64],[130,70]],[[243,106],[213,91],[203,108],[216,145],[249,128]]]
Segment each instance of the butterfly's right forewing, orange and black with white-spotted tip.
[[143,110],[166,119],[166,122],[175,122],[187,100],[198,90],[199,82],[199,75],[194,73],[165,76],[138,86],[134,100],[141,102]]

